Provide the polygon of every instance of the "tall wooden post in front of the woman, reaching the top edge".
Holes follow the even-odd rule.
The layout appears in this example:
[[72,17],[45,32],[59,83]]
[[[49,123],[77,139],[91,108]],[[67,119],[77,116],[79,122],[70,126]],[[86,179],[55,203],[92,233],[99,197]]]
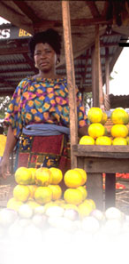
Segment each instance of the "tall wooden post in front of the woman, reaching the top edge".
[[69,88],[71,167],[75,168],[77,167],[77,157],[73,155],[72,145],[76,145],[78,143],[78,123],[69,1],[62,1],[62,14],[65,38],[67,84]]

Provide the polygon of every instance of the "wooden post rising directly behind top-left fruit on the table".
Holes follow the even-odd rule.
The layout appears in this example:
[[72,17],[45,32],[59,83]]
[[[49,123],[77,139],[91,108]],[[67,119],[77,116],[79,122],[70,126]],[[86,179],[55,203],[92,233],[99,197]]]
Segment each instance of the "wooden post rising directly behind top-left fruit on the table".
[[99,25],[95,26],[95,107],[103,105],[102,95],[102,68],[100,58],[100,38],[99,38]]

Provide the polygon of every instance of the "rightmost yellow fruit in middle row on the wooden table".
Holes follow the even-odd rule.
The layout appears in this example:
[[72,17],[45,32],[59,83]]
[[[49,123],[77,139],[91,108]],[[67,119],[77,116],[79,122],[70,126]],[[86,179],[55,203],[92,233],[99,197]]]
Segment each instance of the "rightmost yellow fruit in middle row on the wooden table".
[[128,128],[125,124],[114,124],[110,133],[113,138],[125,138],[128,135]]

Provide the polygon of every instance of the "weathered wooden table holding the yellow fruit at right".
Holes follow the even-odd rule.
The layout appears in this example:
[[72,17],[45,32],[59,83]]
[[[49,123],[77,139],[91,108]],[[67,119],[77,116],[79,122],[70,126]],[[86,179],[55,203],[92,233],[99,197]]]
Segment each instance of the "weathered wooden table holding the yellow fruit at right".
[[[95,200],[98,209],[115,206],[116,172],[129,172],[129,146],[73,145],[72,150],[78,168],[87,172],[87,196]],[[105,196],[102,172],[106,173]]]

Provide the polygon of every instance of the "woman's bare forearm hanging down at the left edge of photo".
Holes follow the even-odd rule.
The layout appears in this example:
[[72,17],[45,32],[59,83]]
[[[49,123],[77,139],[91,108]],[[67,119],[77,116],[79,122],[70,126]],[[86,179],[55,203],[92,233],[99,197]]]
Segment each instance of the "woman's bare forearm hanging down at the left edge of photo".
[[16,143],[17,143],[17,139],[14,137],[10,125],[7,133],[4,156],[0,164],[0,174],[2,175],[3,178],[6,178],[7,174],[9,174],[10,154],[13,151],[13,148],[15,147]]

